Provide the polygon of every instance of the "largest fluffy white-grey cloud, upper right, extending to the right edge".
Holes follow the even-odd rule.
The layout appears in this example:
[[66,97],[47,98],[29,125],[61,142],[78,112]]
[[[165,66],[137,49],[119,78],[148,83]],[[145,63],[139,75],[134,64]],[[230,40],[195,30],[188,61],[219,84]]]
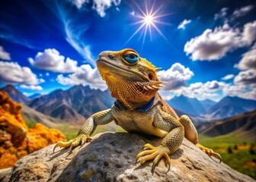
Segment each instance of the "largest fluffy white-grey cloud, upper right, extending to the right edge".
[[[256,39],[256,21],[245,24],[244,30],[224,24],[214,30],[206,29],[184,45],[184,52],[193,61],[213,61],[223,58],[227,52],[251,45]],[[254,33],[254,34],[253,34]]]

